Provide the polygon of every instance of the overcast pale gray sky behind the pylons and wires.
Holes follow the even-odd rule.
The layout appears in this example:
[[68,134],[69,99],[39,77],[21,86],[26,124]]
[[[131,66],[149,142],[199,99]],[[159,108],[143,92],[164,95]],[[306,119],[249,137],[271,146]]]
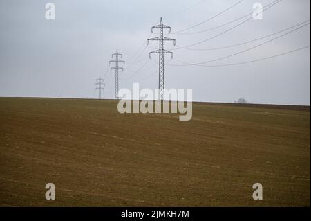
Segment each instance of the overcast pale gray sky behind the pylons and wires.
[[[105,73],[111,54],[116,49],[126,61],[120,76],[120,88],[132,89],[133,82],[139,82],[141,88],[155,89],[158,87],[158,57],[154,55],[149,60],[149,51],[156,49],[158,43],[150,42],[150,47],[142,46],[147,37],[158,35],[158,30],[150,35],[151,26],[159,24],[160,17],[163,17],[164,24],[171,26],[174,33],[205,21],[238,1],[1,0],[0,96],[97,98],[95,78],[106,76],[104,98],[113,98],[114,73]],[[272,1],[245,0],[215,19],[183,33],[225,24],[252,12],[256,2],[265,6]],[[55,20],[45,18],[45,5],[48,2],[55,3]],[[263,12],[262,20],[252,19],[191,48],[240,44],[308,19],[309,0],[283,0]],[[176,39],[175,48],[179,48],[209,39],[241,21],[243,19],[191,35],[167,35],[167,30],[164,33]],[[173,60],[169,61],[169,55],[165,59],[169,64],[182,64],[178,60],[205,62],[243,51],[279,35],[213,51],[174,50]],[[310,25],[251,51],[207,65],[247,62],[309,45]],[[165,43],[165,48],[173,48],[173,42]],[[133,73],[138,70],[141,71]],[[166,65],[165,83],[168,89],[193,89],[194,100],[233,102],[245,97],[250,103],[310,105],[310,48],[236,66]]]

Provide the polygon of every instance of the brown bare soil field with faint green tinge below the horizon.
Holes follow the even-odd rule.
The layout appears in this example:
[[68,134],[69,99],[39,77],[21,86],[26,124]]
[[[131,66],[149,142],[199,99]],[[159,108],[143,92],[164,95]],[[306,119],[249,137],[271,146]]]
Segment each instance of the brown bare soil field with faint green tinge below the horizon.
[[310,206],[310,107],[0,98],[0,206]]

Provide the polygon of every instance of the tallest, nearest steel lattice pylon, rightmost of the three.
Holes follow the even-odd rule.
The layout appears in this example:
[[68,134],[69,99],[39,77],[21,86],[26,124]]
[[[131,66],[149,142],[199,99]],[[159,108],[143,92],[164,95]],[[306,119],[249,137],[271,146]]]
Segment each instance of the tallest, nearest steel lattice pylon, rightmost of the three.
[[171,58],[173,58],[173,52],[164,50],[164,41],[173,41],[173,44],[176,45],[176,39],[163,37],[163,28],[169,28],[169,33],[171,33],[171,27],[163,24],[162,17],[160,19],[160,24],[151,28],[151,33],[153,33],[154,28],[160,29],[160,36],[147,39],[147,45],[149,44],[149,41],[159,41],[159,49],[156,51],[151,51],[149,53],[149,58],[151,58],[151,54],[153,53],[159,54],[159,99],[164,100],[164,53],[170,53]]

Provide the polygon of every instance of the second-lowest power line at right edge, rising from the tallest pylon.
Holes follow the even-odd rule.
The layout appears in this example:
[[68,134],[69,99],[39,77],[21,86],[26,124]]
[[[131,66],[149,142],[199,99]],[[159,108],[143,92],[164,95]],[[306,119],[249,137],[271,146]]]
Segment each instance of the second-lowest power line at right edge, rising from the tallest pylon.
[[235,56],[235,55],[239,55],[239,54],[241,54],[241,53],[245,53],[246,51],[251,51],[251,50],[253,50],[254,48],[258,48],[259,46],[263,46],[264,44],[273,42],[274,40],[279,39],[279,38],[281,38],[281,37],[283,37],[283,36],[285,36],[285,35],[289,35],[290,33],[293,33],[293,32],[296,31],[296,30],[299,30],[299,29],[301,29],[301,28],[303,28],[303,27],[305,27],[305,26],[308,26],[309,24],[310,24],[310,22],[309,22],[308,24],[303,24],[302,26],[300,26],[300,27],[298,27],[298,28],[295,28],[295,29],[293,29],[293,30],[290,30],[290,31],[288,31],[287,33],[284,33],[283,35],[280,35],[280,36],[278,36],[278,37],[274,37],[273,39],[267,40],[266,42],[263,42],[263,43],[258,44],[258,45],[256,45],[256,46],[253,46],[253,47],[251,47],[251,48],[247,48],[247,49],[245,49],[245,50],[243,50],[243,51],[239,51],[239,52],[234,53],[234,54],[232,54],[232,55],[227,55],[227,56],[222,57],[222,58],[217,58],[217,59],[215,59],[215,60],[209,60],[209,61],[207,61],[207,62],[198,62],[198,63],[188,63],[188,62],[182,62],[182,61],[179,61],[179,60],[178,60],[179,62],[182,62],[182,63],[184,63],[184,64],[170,64],[170,65],[171,65],[171,66],[188,66],[188,65],[207,64],[207,63],[211,63],[211,62],[216,62],[216,61],[218,61],[218,60],[224,60],[224,59],[226,59],[226,58],[231,58],[231,57],[233,57],[233,56]]

